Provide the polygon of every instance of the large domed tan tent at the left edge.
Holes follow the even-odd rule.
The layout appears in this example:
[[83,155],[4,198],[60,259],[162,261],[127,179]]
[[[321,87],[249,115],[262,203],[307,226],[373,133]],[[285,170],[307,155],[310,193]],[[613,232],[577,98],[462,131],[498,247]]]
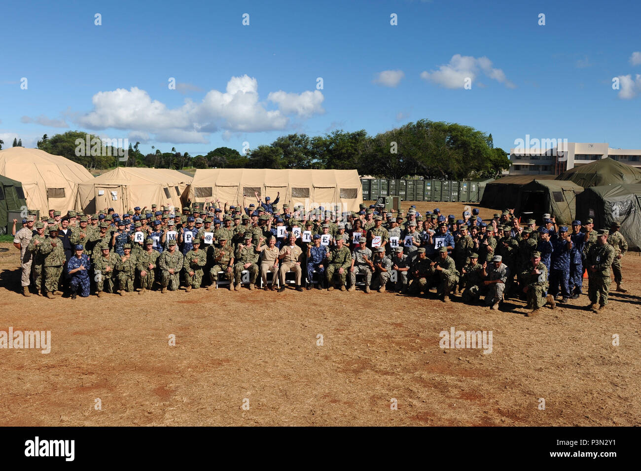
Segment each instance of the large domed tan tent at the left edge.
[[29,210],[44,215],[74,209],[78,183],[92,178],[79,163],[26,147],[0,151],[0,175],[20,181]]

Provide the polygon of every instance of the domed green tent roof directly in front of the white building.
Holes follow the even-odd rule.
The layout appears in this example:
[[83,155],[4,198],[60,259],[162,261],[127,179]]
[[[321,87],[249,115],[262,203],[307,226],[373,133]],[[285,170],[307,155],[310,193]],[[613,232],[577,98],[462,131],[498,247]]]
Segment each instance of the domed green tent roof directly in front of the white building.
[[641,170],[611,158],[595,160],[592,163],[577,165],[566,170],[557,180],[574,181],[583,188],[590,186],[620,185],[621,183],[638,183],[641,181]]

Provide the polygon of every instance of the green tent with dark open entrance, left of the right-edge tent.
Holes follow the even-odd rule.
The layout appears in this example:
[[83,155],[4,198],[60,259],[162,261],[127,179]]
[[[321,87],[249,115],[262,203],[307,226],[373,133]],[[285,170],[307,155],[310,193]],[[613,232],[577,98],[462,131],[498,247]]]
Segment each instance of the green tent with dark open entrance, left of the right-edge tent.
[[520,187],[514,212],[532,213],[539,223],[542,215],[549,213],[558,224],[569,226],[576,214],[576,195],[581,192],[583,187],[572,181],[535,179]]

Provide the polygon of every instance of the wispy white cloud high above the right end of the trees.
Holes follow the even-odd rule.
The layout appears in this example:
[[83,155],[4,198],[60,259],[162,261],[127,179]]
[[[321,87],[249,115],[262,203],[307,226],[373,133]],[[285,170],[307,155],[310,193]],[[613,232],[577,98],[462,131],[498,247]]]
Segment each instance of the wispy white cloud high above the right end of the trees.
[[474,79],[481,73],[490,79],[503,83],[508,88],[516,87],[506,78],[503,70],[492,67],[492,61],[485,56],[475,58],[454,54],[449,63],[440,65],[438,70],[431,70],[431,72],[424,70],[420,73],[420,78],[445,88],[463,88],[465,79],[469,78],[474,82]]

